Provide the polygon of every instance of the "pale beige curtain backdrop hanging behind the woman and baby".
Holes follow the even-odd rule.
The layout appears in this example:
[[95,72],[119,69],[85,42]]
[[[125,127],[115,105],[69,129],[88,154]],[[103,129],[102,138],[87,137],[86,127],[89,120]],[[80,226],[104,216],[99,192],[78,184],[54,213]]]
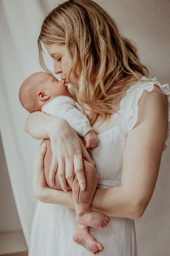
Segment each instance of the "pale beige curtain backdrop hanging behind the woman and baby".
[[[96,0],[132,39],[143,63],[161,84],[170,83],[170,1]],[[43,18],[57,0],[0,1],[0,129],[16,207],[29,248],[37,199],[32,191],[32,169],[40,141],[24,132],[28,112],[19,103],[24,79],[42,70],[37,37]],[[49,66],[52,68],[52,61]],[[170,145],[169,145],[170,146]],[[168,256],[170,241],[170,147],[164,151],[157,184],[142,218],[135,220],[138,256]],[[5,198],[5,195],[4,195]],[[120,255],[121,256],[121,255]]]

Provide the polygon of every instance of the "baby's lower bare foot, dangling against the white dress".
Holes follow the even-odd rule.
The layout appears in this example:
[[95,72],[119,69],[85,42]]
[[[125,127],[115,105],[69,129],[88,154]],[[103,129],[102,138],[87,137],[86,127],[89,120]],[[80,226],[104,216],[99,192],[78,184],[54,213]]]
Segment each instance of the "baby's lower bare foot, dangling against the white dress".
[[86,250],[93,253],[93,255],[98,255],[104,250],[102,244],[96,241],[96,239],[90,234],[87,226],[82,226],[77,223],[76,231],[72,239],[75,243],[80,244]]

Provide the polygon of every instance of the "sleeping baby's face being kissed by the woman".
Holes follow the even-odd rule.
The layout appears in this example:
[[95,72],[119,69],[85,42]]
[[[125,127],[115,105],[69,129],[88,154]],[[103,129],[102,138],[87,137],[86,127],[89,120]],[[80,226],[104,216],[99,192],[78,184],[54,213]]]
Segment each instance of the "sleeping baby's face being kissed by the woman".
[[52,74],[46,74],[44,79],[44,87],[47,94],[50,95],[50,98],[63,95],[71,97],[71,94],[68,90],[68,85],[58,80]]

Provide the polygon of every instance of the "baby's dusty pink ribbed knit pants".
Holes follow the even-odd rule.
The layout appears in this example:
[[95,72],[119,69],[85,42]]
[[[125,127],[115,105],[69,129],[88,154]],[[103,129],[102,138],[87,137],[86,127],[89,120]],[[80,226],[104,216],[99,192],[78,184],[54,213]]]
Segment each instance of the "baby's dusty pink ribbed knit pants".
[[[81,139],[83,144],[86,145],[84,138],[81,136],[79,136],[79,138]],[[55,184],[53,186],[50,185],[49,172],[50,172],[50,166],[51,166],[51,162],[52,162],[51,141],[50,141],[50,139],[44,139],[43,142],[45,142],[45,144],[47,146],[46,154],[44,156],[44,172],[45,172],[47,184],[51,189],[63,190],[61,187],[61,184],[59,182],[59,178],[58,178],[58,168],[55,173]],[[90,148],[88,148],[87,151],[88,151],[90,157],[92,158],[92,150]],[[84,156],[83,156],[83,170],[84,170],[84,176],[86,179],[86,188],[83,191],[80,189],[78,179],[77,179],[74,169],[73,169],[74,182],[72,184],[72,189],[69,186],[69,183],[67,180],[66,180],[66,184],[67,184],[68,190],[72,190],[73,201],[75,204],[91,205],[92,200],[93,200],[93,195],[96,190],[96,186],[99,182],[99,177],[96,173],[96,168],[95,168],[95,165],[93,164],[93,162],[89,161]]]

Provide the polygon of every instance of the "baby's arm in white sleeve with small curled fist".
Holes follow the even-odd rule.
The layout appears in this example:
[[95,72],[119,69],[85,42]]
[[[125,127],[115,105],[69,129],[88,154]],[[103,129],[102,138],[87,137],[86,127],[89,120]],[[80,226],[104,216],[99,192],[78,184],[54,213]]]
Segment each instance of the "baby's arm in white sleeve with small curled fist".
[[71,97],[57,96],[44,105],[42,111],[67,120],[77,134],[84,137],[86,148],[98,147],[98,136],[93,132],[87,117],[76,106]]

